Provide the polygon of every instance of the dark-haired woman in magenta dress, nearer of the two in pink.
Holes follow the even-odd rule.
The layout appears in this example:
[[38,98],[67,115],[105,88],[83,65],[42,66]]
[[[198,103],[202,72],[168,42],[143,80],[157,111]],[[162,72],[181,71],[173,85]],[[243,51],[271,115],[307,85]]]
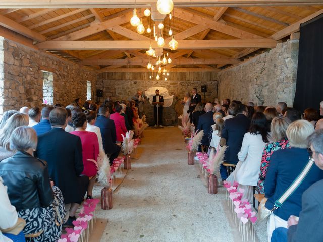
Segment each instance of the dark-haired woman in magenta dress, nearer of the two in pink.
[[75,127],[75,131],[71,134],[80,137],[82,142],[82,156],[83,156],[83,175],[86,175],[90,179],[89,186],[87,188],[87,199],[92,198],[92,190],[95,183],[97,168],[96,164],[91,161],[97,161],[99,155],[99,142],[94,132],[86,131],[87,120],[86,115],[83,112],[72,112],[72,122]]

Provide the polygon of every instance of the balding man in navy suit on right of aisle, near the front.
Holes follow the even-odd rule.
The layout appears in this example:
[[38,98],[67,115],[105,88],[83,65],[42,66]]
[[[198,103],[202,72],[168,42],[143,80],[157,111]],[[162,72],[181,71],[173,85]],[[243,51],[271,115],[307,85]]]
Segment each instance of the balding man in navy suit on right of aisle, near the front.
[[206,103],[204,107],[204,113],[203,115],[199,116],[198,118],[198,125],[195,129],[195,131],[201,131],[203,130],[204,135],[202,138],[202,145],[203,146],[209,146],[210,141],[209,141],[209,134],[212,130],[211,126],[214,125],[214,120],[213,120],[213,105],[212,103]]

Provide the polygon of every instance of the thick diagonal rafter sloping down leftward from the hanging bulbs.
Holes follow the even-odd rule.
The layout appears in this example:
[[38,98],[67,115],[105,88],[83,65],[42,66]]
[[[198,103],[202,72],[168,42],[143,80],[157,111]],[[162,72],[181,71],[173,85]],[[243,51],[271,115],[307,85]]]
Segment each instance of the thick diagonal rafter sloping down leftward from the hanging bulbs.
[[59,37],[55,40],[77,40],[77,39],[81,39],[87,36],[90,36],[92,34],[96,34],[99,33],[101,31],[106,30],[109,27],[113,27],[116,25],[120,25],[120,24],[124,24],[129,22],[129,19],[131,18],[132,14],[131,13],[127,13],[123,16],[118,16],[115,17],[113,19],[109,19],[106,20],[104,22],[101,23],[95,23],[93,25],[91,25],[90,27],[86,28],[86,29],[82,29],[70,34],[67,34],[65,36]]

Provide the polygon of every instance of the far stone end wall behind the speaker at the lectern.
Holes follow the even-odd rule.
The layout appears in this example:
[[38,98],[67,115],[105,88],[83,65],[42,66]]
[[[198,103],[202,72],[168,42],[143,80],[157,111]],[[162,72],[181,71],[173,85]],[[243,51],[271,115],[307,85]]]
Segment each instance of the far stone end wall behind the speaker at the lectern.
[[[218,95],[218,81],[216,74],[211,72],[170,72],[168,80],[150,80],[149,73],[101,73],[97,76],[96,88],[103,90],[103,102],[111,97],[113,101],[129,100],[138,90],[146,90],[150,87],[165,87],[170,95],[174,95],[174,101],[171,107],[164,108],[164,125],[177,125],[178,122],[178,102],[183,100],[185,92],[191,92],[196,87],[201,93],[201,85],[207,86],[205,93],[206,101],[213,101]],[[163,78],[161,78],[163,79]],[[148,124],[153,124],[153,107],[146,103],[144,112],[147,116]],[[181,113],[179,113],[181,114]]]

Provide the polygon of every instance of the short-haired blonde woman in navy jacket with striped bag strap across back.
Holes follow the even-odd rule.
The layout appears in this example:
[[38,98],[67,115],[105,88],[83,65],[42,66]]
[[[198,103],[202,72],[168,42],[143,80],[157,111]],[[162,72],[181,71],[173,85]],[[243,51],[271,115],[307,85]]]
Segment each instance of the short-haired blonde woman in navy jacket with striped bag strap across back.
[[[272,209],[275,201],[283,195],[295,178],[308,163],[310,154],[307,151],[307,137],[314,132],[314,127],[306,120],[297,120],[289,125],[286,131],[290,149],[277,150],[271,156],[264,181],[264,193],[267,201],[265,207]],[[267,222],[268,241],[277,227],[287,227],[290,215],[299,216],[301,211],[301,196],[316,181],[323,179],[323,171],[316,166],[311,167],[307,176],[284,202],[283,206],[274,210]]]

